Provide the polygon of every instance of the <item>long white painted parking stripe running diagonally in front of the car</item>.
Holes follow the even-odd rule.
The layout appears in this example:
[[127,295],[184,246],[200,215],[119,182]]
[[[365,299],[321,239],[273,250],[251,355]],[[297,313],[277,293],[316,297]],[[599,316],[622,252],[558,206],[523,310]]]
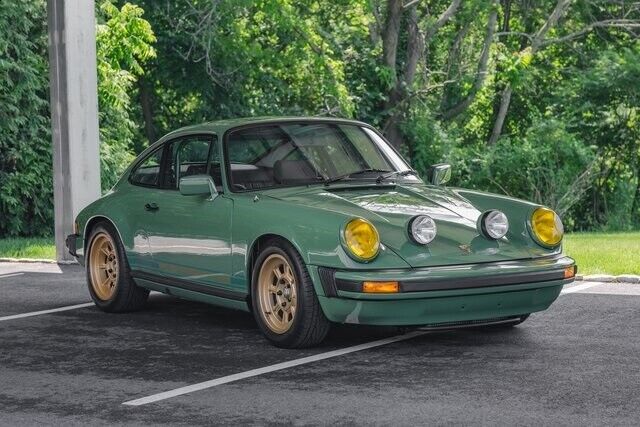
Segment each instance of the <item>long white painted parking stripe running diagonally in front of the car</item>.
[[318,362],[320,360],[330,359],[332,357],[342,356],[344,354],[355,353],[357,351],[367,350],[374,347],[380,347],[387,344],[392,344],[399,341],[406,341],[420,335],[425,335],[428,332],[415,331],[409,332],[404,335],[396,335],[389,338],[384,338],[377,341],[371,341],[364,344],[358,344],[351,347],[345,347],[338,350],[328,351],[326,353],[315,354],[313,356],[303,357],[301,359],[294,359],[288,362],[276,363],[275,365],[265,366],[262,368],[252,369],[250,371],[240,372],[237,374],[227,375],[226,377],[216,378],[214,380],[201,382],[198,384],[188,385],[186,387],[176,388],[174,390],[165,391],[151,396],[142,397],[140,399],[129,400],[124,402],[123,405],[129,406],[141,406],[149,403],[158,402],[172,397],[181,396],[183,394],[193,393],[194,391],[200,391],[211,387],[216,387],[222,384],[228,384],[235,381],[240,381],[245,378],[256,377],[258,375],[268,374],[270,372],[281,371],[283,369],[293,368],[295,366],[305,365],[308,363]]

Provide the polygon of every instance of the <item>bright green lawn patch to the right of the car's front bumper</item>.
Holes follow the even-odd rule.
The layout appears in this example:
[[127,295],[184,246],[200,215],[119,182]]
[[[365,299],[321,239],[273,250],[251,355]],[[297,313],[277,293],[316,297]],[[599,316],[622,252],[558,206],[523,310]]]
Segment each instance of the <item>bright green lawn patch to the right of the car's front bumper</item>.
[[567,234],[564,251],[579,274],[640,274],[640,232]]

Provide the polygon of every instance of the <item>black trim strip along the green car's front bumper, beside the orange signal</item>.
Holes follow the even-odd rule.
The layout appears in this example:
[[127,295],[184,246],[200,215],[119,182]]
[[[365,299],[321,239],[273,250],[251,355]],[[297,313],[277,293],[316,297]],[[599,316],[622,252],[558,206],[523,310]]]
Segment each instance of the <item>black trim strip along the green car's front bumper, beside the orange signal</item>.
[[[421,280],[400,281],[400,292],[449,291],[457,289],[487,288],[492,286],[521,285],[524,283],[550,282],[564,280],[566,283],[573,278],[565,279],[564,268],[554,271],[535,271],[515,274],[500,274],[491,276],[476,276],[463,278],[433,278]],[[362,282],[335,279],[339,291],[362,292]]]

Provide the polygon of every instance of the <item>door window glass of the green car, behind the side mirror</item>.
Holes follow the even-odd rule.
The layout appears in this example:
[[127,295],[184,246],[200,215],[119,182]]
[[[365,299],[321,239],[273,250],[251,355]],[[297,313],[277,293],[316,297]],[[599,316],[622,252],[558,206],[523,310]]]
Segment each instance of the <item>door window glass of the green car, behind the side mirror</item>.
[[167,188],[178,188],[180,178],[208,173],[209,147],[211,136],[192,136],[169,143],[167,163]]

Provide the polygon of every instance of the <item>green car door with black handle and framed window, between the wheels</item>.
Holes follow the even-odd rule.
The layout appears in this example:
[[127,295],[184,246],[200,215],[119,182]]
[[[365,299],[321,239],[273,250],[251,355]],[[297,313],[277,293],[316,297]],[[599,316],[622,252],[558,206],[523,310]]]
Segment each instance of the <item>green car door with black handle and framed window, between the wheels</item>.
[[[151,256],[156,273],[181,279],[184,286],[229,286],[233,200],[223,194],[185,196],[180,178],[210,174],[218,188],[220,150],[213,135],[192,135],[166,143],[162,188],[149,193],[145,206]],[[189,284],[193,286],[189,286]]]

